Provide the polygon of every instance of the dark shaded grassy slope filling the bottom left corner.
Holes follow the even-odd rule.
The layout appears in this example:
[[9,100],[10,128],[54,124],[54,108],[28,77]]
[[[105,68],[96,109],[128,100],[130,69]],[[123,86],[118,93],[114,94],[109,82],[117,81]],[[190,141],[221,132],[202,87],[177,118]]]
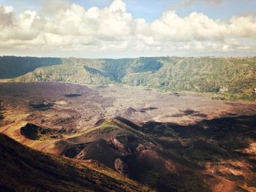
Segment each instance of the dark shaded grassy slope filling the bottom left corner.
[[0,134],[0,166],[4,191],[143,191],[116,173],[113,177],[118,179],[78,161],[31,150],[4,134]]

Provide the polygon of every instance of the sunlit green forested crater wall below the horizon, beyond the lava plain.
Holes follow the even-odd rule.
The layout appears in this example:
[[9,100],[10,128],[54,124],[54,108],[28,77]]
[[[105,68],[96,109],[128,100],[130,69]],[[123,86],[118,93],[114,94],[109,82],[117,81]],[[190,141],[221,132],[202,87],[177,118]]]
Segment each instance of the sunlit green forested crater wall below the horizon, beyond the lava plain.
[[61,81],[81,84],[127,84],[160,91],[218,93],[215,99],[254,100],[254,58],[62,58],[12,81]]

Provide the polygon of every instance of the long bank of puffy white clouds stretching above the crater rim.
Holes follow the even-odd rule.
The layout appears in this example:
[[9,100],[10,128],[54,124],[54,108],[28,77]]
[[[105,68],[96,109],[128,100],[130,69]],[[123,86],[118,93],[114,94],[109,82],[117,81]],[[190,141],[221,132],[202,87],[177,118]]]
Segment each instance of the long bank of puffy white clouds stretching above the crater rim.
[[[58,4],[56,2],[59,2]],[[214,2],[214,1],[213,1]],[[217,2],[217,1],[216,1]],[[256,18],[234,16],[213,20],[192,12],[181,18],[173,10],[151,23],[133,18],[124,1],[109,7],[85,9],[68,1],[55,1],[42,12],[0,5],[0,53],[66,53],[89,57],[106,55],[173,55],[175,53],[254,53]],[[75,53],[76,54],[76,53]],[[91,57],[94,57],[92,55]],[[118,55],[117,55],[118,57]]]

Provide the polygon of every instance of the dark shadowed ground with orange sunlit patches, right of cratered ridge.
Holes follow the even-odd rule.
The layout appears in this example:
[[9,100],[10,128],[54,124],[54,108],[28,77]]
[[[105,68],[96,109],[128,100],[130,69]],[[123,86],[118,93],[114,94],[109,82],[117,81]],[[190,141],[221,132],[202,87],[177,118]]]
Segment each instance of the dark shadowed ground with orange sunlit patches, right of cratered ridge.
[[[181,126],[176,123],[147,122],[140,131],[154,137],[171,155],[188,166],[206,170],[239,185],[256,187],[256,115],[215,118]],[[225,171],[223,171],[225,170]]]

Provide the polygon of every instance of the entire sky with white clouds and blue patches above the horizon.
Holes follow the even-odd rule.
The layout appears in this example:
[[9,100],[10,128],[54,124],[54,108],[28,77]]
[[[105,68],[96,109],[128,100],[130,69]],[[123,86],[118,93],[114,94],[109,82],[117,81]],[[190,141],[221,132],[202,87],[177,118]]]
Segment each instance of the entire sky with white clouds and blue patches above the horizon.
[[255,0],[0,0],[0,55],[256,55]]

